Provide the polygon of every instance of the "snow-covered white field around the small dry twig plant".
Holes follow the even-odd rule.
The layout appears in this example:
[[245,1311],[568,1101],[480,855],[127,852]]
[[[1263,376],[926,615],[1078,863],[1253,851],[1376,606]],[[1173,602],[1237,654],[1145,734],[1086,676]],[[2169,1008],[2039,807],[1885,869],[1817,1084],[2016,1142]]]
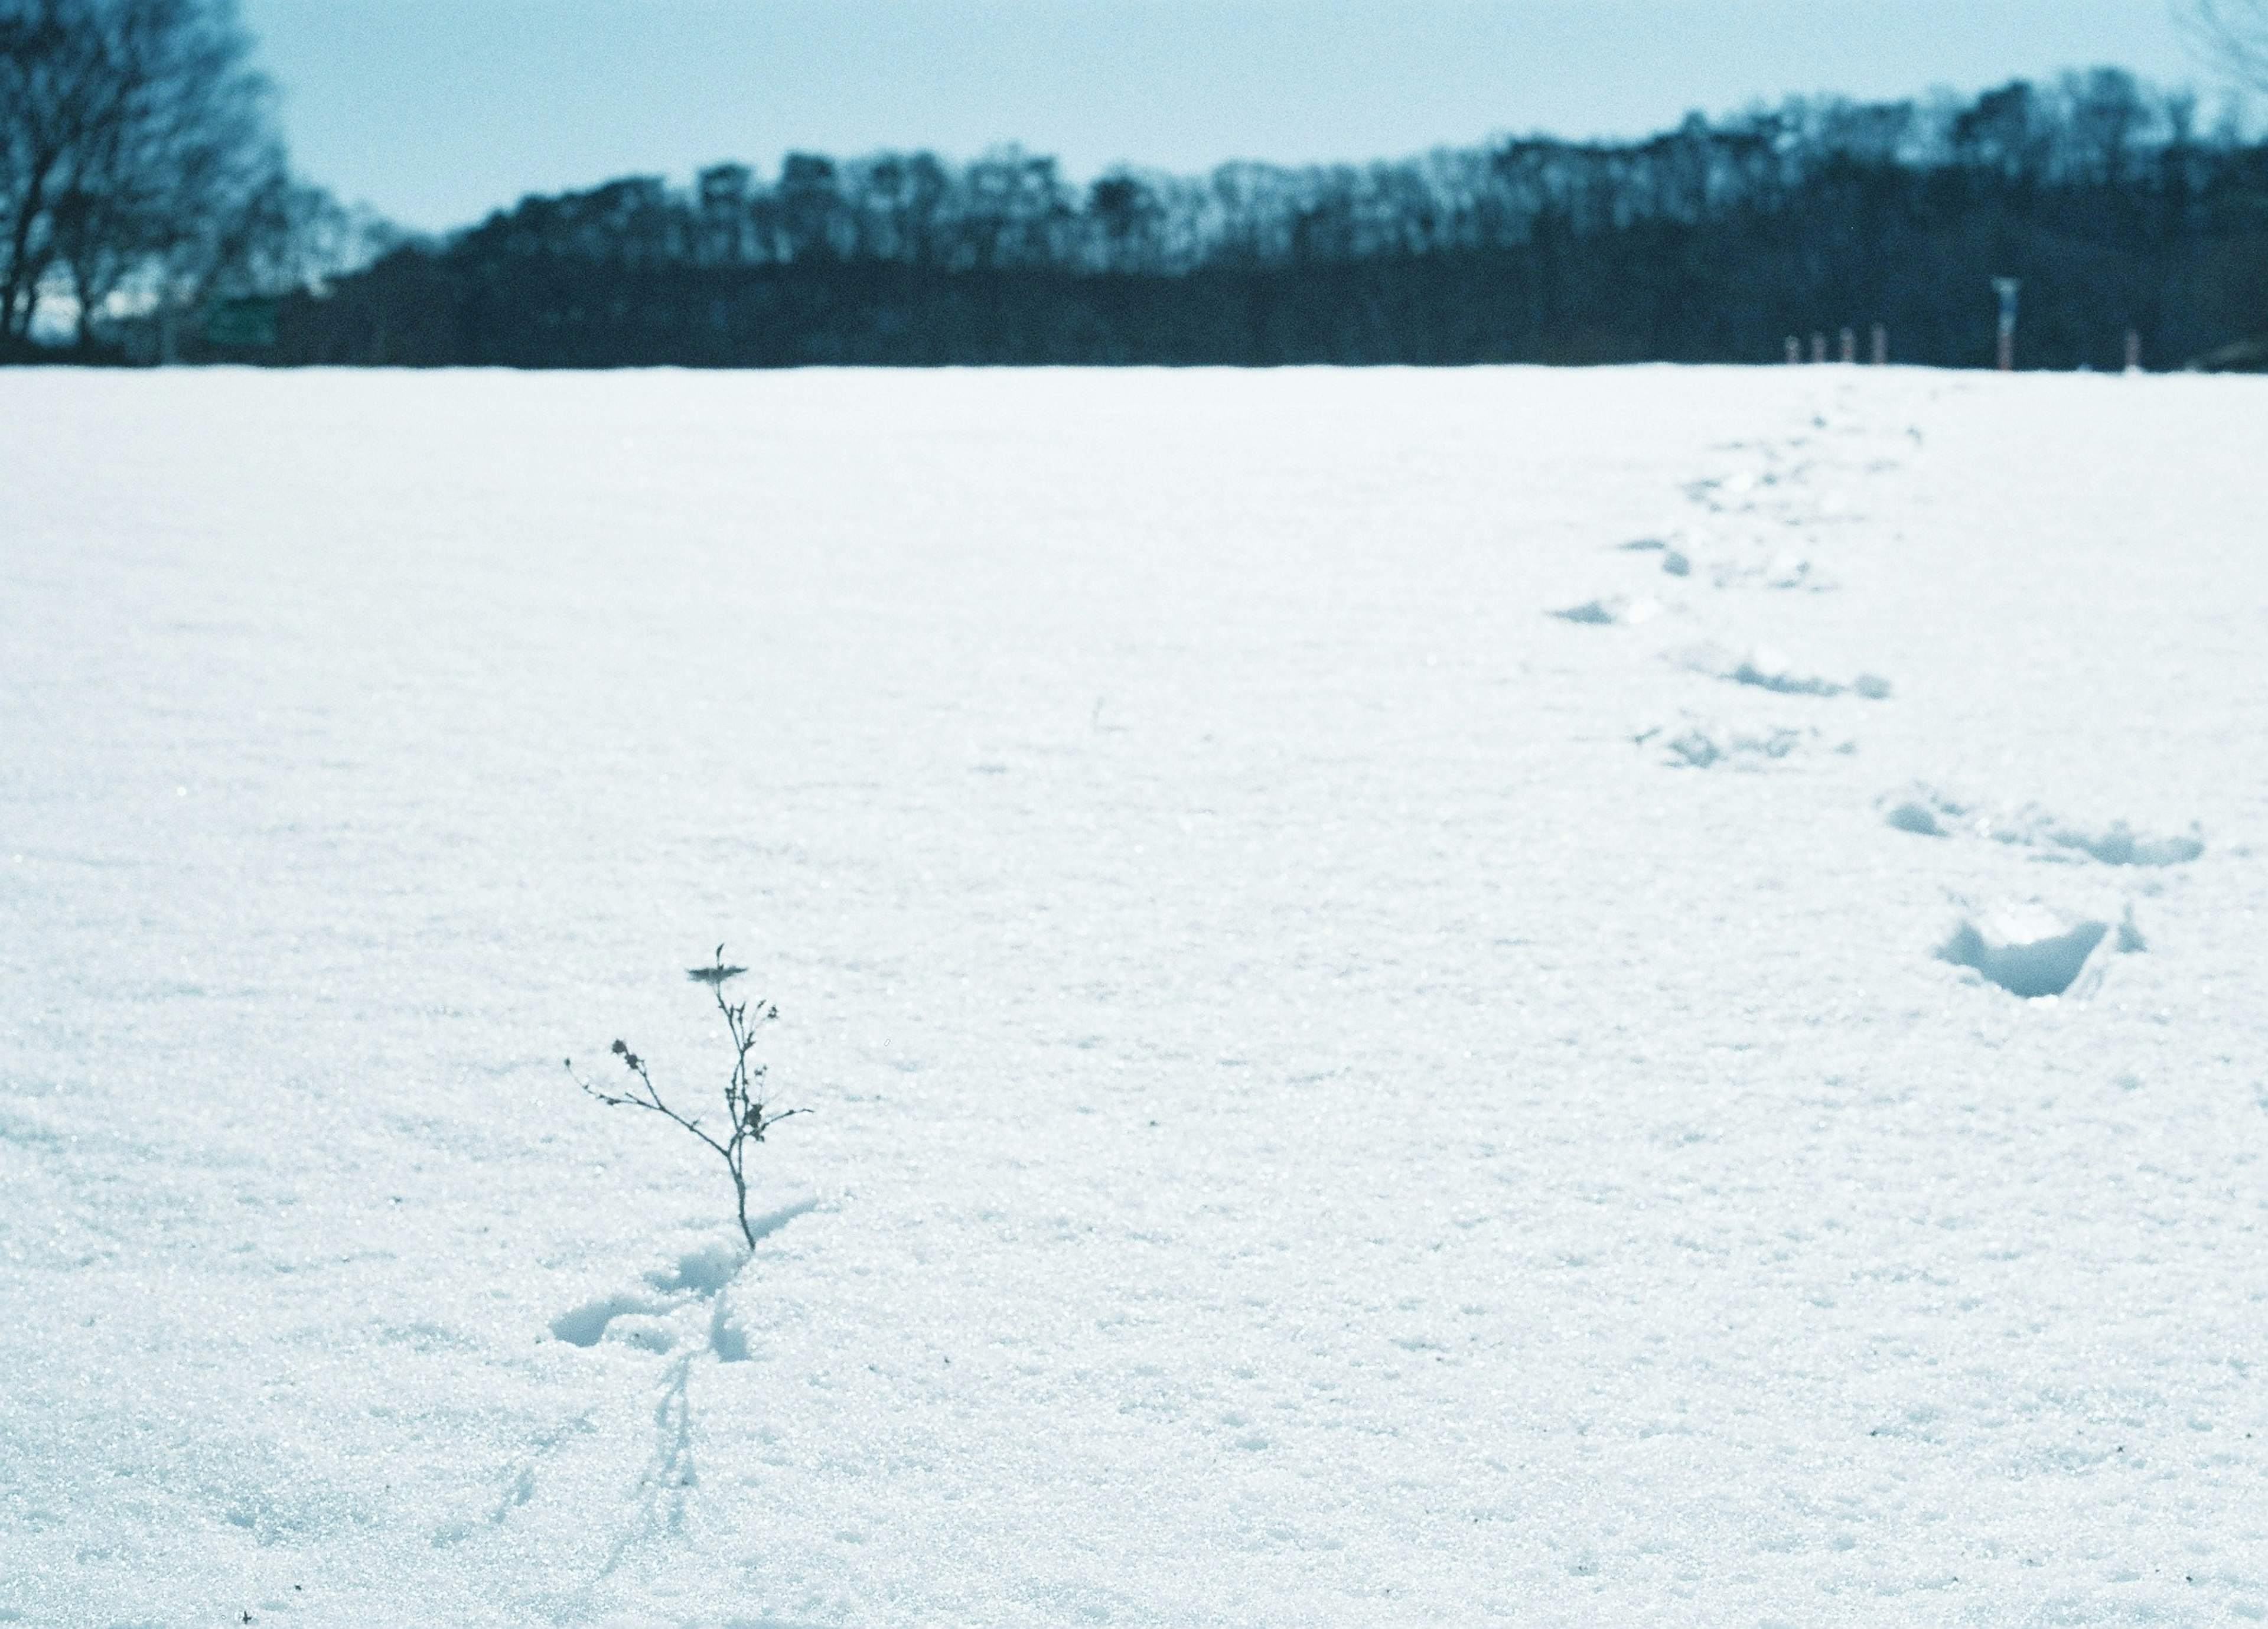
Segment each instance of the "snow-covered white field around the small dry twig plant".
[[0,406],[0,1620],[2268,1618],[2261,381]]

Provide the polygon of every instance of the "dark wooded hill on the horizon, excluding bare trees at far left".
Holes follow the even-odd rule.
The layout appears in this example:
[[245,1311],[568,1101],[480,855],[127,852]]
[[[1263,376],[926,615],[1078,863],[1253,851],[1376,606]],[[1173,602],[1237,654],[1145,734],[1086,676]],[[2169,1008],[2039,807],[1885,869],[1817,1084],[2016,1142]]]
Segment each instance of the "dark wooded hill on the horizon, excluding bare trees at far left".
[[1064,182],[1043,157],[794,154],[528,197],[277,313],[279,361],[1898,361],[2157,365],[2268,329],[2268,147],[2121,70],[1973,102],[1799,100],[1637,143]]

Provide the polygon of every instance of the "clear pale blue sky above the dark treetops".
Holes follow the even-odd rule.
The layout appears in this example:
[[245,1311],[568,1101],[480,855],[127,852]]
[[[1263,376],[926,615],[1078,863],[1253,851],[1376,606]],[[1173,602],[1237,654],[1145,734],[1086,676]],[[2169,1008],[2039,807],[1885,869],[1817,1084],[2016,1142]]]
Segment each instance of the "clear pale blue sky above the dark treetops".
[[426,229],[794,147],[1018,141],[1084,177],[1640,134],[1787,91],[2102,61],[2218,93],[2175,0],[240,2],[299,168]]

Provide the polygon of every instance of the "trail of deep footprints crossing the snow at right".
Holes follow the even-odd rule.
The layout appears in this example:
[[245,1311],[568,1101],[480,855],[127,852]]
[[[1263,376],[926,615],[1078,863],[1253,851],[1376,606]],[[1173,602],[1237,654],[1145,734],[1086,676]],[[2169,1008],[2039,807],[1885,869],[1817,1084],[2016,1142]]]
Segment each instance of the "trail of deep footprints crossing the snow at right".
[[[1846,524],[1853,515],[1842,490],[1821,490],[1814,481],[1823,467],[1817,442],[1819,433],[1828,431],[1828,420],[1814,413],[1810,431],[1783,442],[1733,442],[1726,451],[1749,454],[1760,467],[1690,481],[1683,488],[1685,499],[1703,510],[1706,520],[1617,547],[1619,554],[1633,556],[1633,563],[1649,563],[1653,572],[1672,579],[1658,592],[1601,594],[1551,615],[1581,626],[1628,628],[1662,615],[1687,615],[1685,604],[1662,599],[1681,588],[1835,592],[1839,585],[1812,558],[1812,547],[1826,529]],[[1916,445],[1923,440],[1919,429],[1907,429],[1905,436]],[[1892,458],[1871,458],[1855,472],[1873,476],[1898,467]],[[1842,465],[1839,472],[1851,474],[1853,465]],[[1880,674],[1812,672],[1762,644],[1735,649],[1699,640],[1667,651],[1667,660],[1696,678],[1774,697],[1862,703],[1892,699],[1892,683]],[[1667,767],[1706,771],[1767,771],[1808,753],[1857,751],[1855,737],[1821,721],[1789,724],[1785,717],[1753,715],[1726,719],[1706,710],[1685,712],[1674,724],[1658,724],[1631,740]],[[2130,878],[2125,887],[2087,880],[2050,885],[2046,892],[2053,898],[2034,894],[1991,903],[1953,901],[1957,919],[1935,946],[1935,957],[1964,969],[1971,980],[1998,985],[2025,1001],[2096,994],[2114,957],[2148,948],[2134,923],[2134,894],[2157,892],[2157,883],[2146,878],[2168,867],[2184,867],[2204,853],[2204,837],[2195,828],[2143,833],[2125,821],[2084,826],[2037,805],[1987,808],[1928,785],[1885,794],[1876,808],[1882,824],[1905,837],[1989,842],[2030,862]],[[2075,898],[2087,903],[2071,905]]]

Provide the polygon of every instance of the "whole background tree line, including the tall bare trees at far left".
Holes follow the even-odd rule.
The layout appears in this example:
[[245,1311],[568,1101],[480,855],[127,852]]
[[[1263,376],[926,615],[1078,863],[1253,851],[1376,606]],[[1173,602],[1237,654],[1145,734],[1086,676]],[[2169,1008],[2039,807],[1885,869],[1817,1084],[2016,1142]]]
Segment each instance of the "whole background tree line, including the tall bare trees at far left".
[[1994,277],[2023,365],[2268,331],[2268,143],[2116,68],[1086,184],[789,154],[399,240],[293,179],[247,52],[229,0],[0,0],[0,349],[45,299],[79,354],[284,365],[1776,361],[1873,324],[1980,365]]

